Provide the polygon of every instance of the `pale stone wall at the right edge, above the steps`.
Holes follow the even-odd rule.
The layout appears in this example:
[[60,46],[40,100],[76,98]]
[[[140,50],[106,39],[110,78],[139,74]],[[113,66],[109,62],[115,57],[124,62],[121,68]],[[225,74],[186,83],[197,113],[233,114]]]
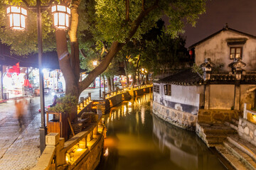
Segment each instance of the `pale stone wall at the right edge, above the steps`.
[[256,146],[256,125],[244,118],[239,119],[238,135]]

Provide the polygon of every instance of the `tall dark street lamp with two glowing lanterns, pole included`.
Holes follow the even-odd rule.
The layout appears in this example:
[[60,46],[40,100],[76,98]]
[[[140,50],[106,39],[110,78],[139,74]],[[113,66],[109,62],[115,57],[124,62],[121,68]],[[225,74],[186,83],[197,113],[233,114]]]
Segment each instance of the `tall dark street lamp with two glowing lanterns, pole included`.
[[[48,6],[41,6],[41,0],[36,0],[36,7],[29,6],[25,0],[22,0],[28,8],[36,9],[37,13],[37,28],[38,28],[38,68],[39,68],[39,82],[40,82],[40,103],[41,103],[41,127],[40,127],[40,149],[41,154],[46,147],[46,117],[45,117],[45,101],[44,101],[44,85],[43,85],[43,40],[42,40],[42,22],[41,11],[42,9],[49,8],[53,0],[49,2]],[[70,8],[63,5],[52,6],[52,12],[54,15],[55,28],[65,29],[69,26]],[[9,6],[6,9],[6,13],[9,15],[10,27],[13,30],[25,29],[25,18],[27,11],[25,8],[17,6]],[[57,14],[57,15],[56,15]]]

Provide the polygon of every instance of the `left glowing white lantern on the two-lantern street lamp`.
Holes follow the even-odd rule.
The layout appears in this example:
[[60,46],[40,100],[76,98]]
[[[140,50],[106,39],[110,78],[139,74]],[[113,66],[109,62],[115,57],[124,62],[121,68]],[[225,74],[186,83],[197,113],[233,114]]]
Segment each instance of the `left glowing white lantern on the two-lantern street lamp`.
[[9,6],[6,8],[6,13],[9,16],[10,28],[14,30],[25,29],[25,18],[27,11],[25,8],[18,6]]

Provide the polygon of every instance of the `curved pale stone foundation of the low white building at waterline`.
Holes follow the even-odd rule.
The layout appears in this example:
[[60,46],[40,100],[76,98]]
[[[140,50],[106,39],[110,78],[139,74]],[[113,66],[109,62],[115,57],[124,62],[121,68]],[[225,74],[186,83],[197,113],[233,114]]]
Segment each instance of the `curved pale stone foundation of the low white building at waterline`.
[[176,125],[179,128],[183,128],[186,130],[196,129],[197,115],[193,115],[191,113],[186,113],[183,111],[177,111],[173,108],[162,106],[155,101],[153,101],[153,113],[159,116],[159,118],[173,125]]

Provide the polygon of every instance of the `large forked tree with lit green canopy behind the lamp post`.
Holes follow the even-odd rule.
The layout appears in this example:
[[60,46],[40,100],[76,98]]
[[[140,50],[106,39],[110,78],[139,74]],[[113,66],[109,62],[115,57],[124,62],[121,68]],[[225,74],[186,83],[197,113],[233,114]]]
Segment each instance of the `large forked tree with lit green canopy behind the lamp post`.
[[[73,0],[65,2],[70,3],[72,17],[68,38],[65,30],[53,30],[51,28],[49,11],[44,11],[43,47],[46,50],[52,49],[51,45],[53,45],[54,41],[51,35],[55,33],[60,69],[66,81],[66,94],[77,96],[77,98],[87,86],[90,86],[95,77],[107,69],[113,57],[127,42],[132,38],[140,40],[144,33],[156,26],[156,21],[163,15],[169,17],[169,26],[166,26],[166,33],[176,36],[178,33],[183,32],[183,21],[195,26],[198,14],[204,13],[206,6],[206,0]],[[13,52],[18,54],[36,51],[36,23],[34,22],[36,17],[33,18],[35,13],[31,11],[28,13],[28,21],[33,23],[31,25],[34,26],[28,26],[28,30],[22,33],[11,33],[11,30],[6,26],[6,14],[3,4],[21,4],[21,1],[2,0],[0,3],[1,41],[11,45]],[[29,1],[28,3],[35,4],[34,1]],[[81,16],[83,18],[88,17],[87,20],[80,22],[83,23],[83,28],[78,28],[80,6],[85,6],[85,14],[82,13]],[[33,15],[30,15],[30,13],[33,13]],[[96,36],[97,40],[101,39],[102,41],[110,42],[111,46],[102,62],[83,81],[79,82],[80,50],[78,33],[82,33],[82,30],[86,29],[91,30],[92,35]],[[92,31],[92,29],[95,30]],[[70,52],[67,40],[70,44]],[[24,47],[26,47],[26,50],[24,50],[26,52],[23,52]]]

